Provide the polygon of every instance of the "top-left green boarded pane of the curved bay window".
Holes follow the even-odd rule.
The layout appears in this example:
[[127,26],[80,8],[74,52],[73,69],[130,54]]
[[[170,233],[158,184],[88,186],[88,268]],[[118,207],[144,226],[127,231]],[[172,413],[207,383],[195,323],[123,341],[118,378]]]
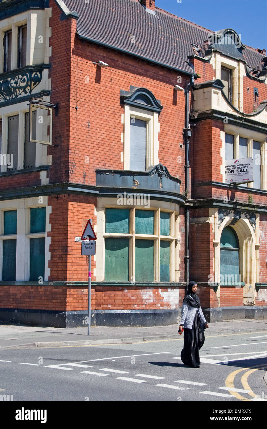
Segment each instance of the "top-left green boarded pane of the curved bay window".
[[106,233],[129,233],[129,208],[106,208]]

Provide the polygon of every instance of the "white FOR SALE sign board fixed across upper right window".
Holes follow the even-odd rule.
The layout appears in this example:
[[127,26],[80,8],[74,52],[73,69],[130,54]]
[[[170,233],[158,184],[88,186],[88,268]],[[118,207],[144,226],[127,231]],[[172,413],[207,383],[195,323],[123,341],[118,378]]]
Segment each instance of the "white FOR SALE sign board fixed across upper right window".
[[253,182],[252,158],[225,160],[225,183]]

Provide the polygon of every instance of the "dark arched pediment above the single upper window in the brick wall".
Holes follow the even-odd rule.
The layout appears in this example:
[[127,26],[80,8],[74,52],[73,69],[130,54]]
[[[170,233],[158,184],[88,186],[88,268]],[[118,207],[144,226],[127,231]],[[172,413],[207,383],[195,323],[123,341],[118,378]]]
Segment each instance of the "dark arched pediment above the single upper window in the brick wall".
[[156,100],[154,94],[147,88],[130,87],[130,91],[120,91],[120,99],[123,104],[135,106],[139,109],[160,113],[163,106],[160,100]]

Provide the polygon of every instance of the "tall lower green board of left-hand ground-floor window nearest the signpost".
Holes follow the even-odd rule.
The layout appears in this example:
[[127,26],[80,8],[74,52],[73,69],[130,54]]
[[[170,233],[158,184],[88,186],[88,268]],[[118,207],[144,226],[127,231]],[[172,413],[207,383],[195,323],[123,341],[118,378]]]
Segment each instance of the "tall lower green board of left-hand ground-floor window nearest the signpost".
[[45,278],[45,238],[30,239],[30,281]]

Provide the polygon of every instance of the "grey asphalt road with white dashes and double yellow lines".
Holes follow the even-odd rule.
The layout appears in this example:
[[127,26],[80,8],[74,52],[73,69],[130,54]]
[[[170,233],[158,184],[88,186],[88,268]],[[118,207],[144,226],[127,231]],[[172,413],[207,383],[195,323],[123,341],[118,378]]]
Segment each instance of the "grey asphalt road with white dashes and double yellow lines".
[[13,401],[267,401],[267,334],[208,337],[201,367],[183,338],[0,351],[0,394]]

